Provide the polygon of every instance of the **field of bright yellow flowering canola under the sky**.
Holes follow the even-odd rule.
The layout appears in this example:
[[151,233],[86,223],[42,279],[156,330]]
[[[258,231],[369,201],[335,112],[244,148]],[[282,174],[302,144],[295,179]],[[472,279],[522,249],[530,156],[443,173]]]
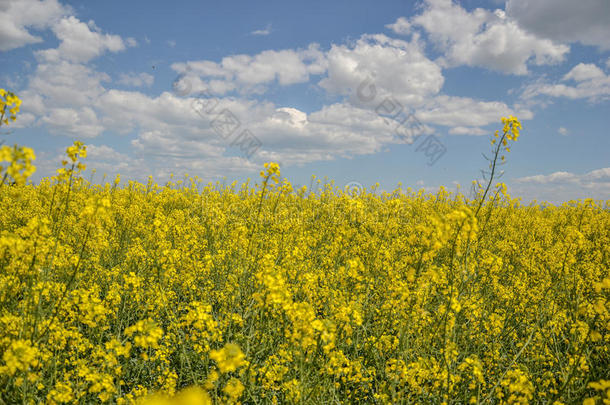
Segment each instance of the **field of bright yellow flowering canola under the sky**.
[[79,142],[32,185],[2,148],[0,403],[610,403],[610,202],[96,185]]

